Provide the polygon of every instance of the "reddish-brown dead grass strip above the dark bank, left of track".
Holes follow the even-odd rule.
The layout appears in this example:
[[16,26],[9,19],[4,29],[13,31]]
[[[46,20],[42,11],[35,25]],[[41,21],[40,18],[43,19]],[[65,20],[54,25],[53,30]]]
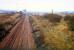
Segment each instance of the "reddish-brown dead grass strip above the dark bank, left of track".
[[19,16],[19,14],[14,14],[14,15],[0,15],[0,24],[5,24],[5,23],[10,23],[12,21],[14,21],[17,17]]

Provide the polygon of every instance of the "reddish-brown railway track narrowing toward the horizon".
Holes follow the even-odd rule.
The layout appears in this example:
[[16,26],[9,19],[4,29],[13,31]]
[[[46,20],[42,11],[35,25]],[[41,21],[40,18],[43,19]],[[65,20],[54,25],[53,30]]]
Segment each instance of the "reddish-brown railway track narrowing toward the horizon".
[[16,26],[0,42],[0,48],[19,48],[22,50],[35,49],[35,43],[32,36],[32,28],[28,16],[22,16]]

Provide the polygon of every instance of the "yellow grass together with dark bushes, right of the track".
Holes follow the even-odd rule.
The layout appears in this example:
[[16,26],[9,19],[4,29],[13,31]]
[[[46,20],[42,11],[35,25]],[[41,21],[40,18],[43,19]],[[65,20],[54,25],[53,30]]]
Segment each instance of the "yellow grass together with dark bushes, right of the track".
[[[46,50],[74,50],[73,16],[57,19],[55,16],[46,15],[44,17],[37,16],[32,18],[33,22],[39,27],[40,36],[43,36],[41,46]],[[57,23],[57,25],[54,23]]]

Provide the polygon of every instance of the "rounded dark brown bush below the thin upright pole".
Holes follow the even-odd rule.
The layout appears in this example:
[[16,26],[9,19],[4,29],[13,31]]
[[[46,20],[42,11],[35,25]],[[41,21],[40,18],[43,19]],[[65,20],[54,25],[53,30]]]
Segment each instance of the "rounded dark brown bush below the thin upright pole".
[[48,15],[45,15],[44,18],[47,18],[50,22],[55,23],[55,22],[60,22],[62,16],[58,14],[48,14]]

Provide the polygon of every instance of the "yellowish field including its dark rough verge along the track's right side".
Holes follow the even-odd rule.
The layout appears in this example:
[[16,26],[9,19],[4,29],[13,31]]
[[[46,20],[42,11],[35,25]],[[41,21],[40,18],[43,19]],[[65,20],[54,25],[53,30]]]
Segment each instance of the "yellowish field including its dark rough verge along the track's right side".
[[31,22],[38,48],[48,50],[73,50],[74,45],[70,37],[74,32],[69,30],[69,26],[63,17],[60,22],[53,22],[48,18],[32,16]]

